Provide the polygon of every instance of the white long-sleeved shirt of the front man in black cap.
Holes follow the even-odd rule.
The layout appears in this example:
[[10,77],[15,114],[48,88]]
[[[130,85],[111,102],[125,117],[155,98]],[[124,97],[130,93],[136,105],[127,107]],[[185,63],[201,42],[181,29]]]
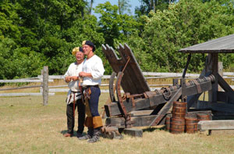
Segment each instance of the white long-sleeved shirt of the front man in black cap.
[[92,85],[100,85],[101,78],[105,72],[102,60],[97,55],[93,55],[89,59],[85,59],[83,62],[82,71],[86,73],[91,73],[92,78],[84,77],[83,78],[83,87],[92,86]]

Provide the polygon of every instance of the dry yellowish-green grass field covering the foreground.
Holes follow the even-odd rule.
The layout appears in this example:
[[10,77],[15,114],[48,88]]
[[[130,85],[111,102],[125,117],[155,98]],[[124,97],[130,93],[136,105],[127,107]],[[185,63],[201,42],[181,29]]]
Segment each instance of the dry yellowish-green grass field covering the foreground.
[[[100,112],[108,96],[101,95]],[[0,153],[233,153],[234,133],[224,131],[206,136],[203,133],[174,135],[155,129],[144,131],[142,138],[124,135],[122,140],[101,138],[94,144],[76,137],[64,138],[65,97],[65,93],[50,96],[47,106],[42,105],[41,96],[0,97]]]

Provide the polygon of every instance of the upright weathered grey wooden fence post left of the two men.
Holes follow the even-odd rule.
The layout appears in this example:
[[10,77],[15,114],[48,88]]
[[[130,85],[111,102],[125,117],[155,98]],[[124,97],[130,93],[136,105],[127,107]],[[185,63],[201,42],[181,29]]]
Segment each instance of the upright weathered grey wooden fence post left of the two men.
[[48,66],[44,66],[42,70],[42,76],[43,76],[43,83],[42,83],[42,95],[43,95],[43,105],[48,104],[48,78],[49,78],[49,70]]

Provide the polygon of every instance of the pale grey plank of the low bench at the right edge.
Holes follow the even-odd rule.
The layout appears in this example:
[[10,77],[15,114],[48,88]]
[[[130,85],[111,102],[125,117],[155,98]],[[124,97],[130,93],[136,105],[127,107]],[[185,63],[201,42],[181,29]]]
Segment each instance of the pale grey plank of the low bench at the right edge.
[[206,120],[198,122],[198,129],[204,130],[231,130],[234,129],[234,120]]

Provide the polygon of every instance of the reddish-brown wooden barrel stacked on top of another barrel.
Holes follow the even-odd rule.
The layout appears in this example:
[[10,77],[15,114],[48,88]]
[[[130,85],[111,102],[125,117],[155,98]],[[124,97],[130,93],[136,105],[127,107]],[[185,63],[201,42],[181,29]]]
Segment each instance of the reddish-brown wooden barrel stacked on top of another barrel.
[[186,102],[173,102],[172,117],[184,118],[186,114]]

